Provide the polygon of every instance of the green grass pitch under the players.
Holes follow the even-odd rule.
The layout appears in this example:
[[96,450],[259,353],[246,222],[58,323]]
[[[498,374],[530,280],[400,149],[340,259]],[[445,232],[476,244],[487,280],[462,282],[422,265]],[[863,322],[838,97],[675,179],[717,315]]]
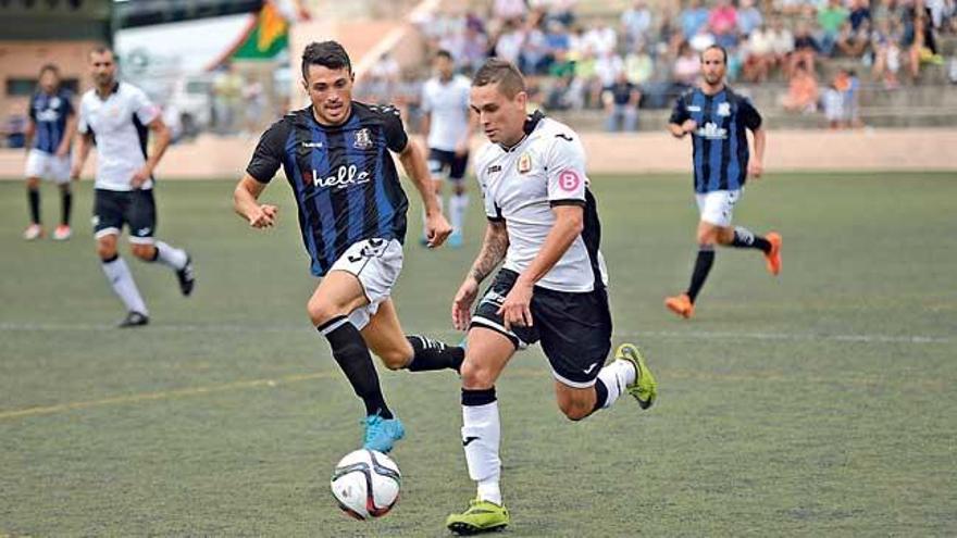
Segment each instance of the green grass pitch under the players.
[[[691,180],[595,177],[614,343],[645,348],[658,404],[581,423],[537,348],[498,384],[508,536],[957,535],[957,182],[944,174],[771,174],[735,222],[784,237],[769,276],[721,250],[691,322],[662,306],[695,252]],[[194,255],[194,297],[127,255],[152,323],[94,253],[90,184],[74,238],[27,243],[21,183],[0,184],[0,536],[445,536],[474,495],[457,377],[382,371],[403,418],[401,500],[343,516],[328,492],[361,405],[309,326],[315,281],[291,193],[278,228],[232,213],[233,182],[161,183],[159,236]],[[411,189],[409,189],[411,191]],[[448,341],[461,250],[418,247],[395,290],[407,331]],[[44,187],[48,232],[59,216]]]

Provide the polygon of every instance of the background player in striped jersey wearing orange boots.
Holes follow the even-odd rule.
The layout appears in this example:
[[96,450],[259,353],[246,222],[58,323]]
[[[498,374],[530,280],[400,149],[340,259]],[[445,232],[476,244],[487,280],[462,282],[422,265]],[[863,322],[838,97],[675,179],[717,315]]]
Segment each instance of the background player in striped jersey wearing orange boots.
[[[664,299],[675,314],[689,318],[695,300],[711,265],[714,246],[758,249],[765,253],[768,271],[781,272],[781,236],[757,236],[742,226],[731,226],[734,204],[741,199],[747,176],[758,178],[763,172],[765,130],[761,116],[746,98],[724,83],[728,53],[719,46],[701,52],[700,85],[678,99],[668,129],[676,138],[692,135],[695,165],[695,196],[698,202],[698,257],[691,286],[684,293]],[[745,129],[755,138],[755,154],[749,158]]]

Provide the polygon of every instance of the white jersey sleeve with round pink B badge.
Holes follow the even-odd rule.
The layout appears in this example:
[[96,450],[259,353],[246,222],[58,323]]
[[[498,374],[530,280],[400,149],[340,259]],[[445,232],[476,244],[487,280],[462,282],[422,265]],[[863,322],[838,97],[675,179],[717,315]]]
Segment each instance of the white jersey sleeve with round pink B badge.
[[545,175],[551,205],[585,203],[585,148],[575,134],[555,134],[545,153]]

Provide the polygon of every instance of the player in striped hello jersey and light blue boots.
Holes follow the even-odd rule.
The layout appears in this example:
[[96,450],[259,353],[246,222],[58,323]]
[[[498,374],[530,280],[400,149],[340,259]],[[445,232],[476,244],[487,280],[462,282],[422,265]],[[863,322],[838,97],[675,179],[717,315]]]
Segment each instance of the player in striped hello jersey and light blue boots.
[[352,101],[352,65],[335,41],[302,53],[312,101],[263,135],[236,186],[236,213],[254,228],[273,226],[277,208],[258,199],[283,167],[298,207],[312,274],[322,277],[309,299],[312,324],[328,340],[365,405],[365,448],[388,452],[405,428],[385,402],[370,350],[391,370],[459,370],[462,348],[406,337],[390,299],[402,268],[409,201],[389,152],[398,153],[425,207],[431,247],[451,233],[433,190],[422,149],[409,140],[391,105]]

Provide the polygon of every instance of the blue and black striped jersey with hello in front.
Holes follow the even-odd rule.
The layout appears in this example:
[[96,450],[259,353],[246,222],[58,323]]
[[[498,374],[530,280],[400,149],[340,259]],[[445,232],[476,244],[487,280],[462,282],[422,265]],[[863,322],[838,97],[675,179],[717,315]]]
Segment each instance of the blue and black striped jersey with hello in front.
[[312,274],[324,276],[358,241],[405,240],[409,201],[389,151],[401,152],[407,143],[391,105],[352,101],[349,118],[337,126],[321,125],[307,107],[262,135],[246,172],[269,183],[283,167]]

